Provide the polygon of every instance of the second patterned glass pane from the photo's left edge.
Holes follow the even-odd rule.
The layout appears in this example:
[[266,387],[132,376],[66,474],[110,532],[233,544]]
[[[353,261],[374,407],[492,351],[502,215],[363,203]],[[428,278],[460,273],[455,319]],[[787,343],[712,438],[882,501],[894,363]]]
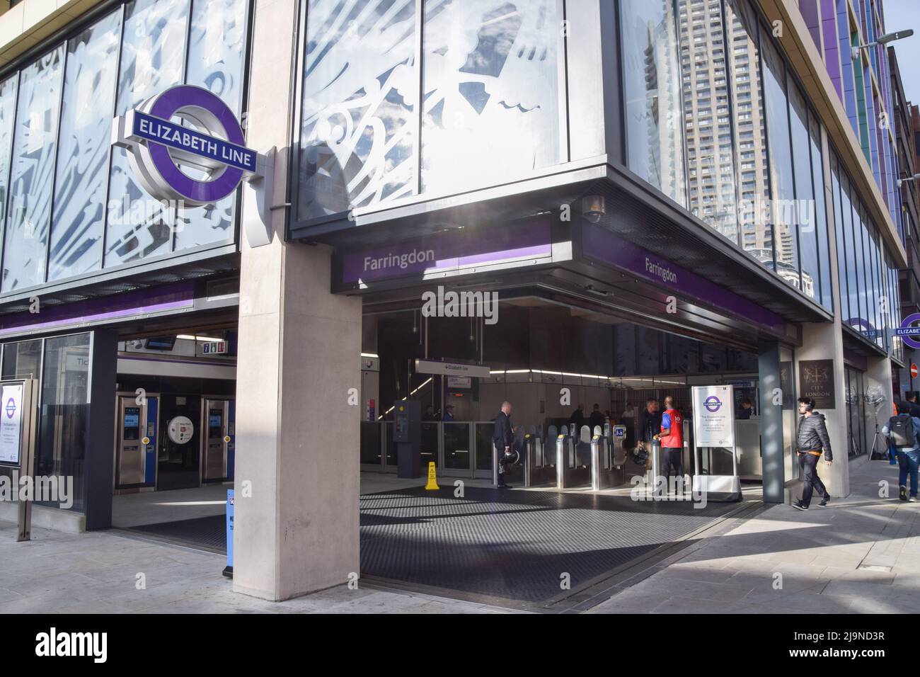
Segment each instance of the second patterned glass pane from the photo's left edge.
[[20,73],[3,257],[3,291],[44,281],[63,45]]

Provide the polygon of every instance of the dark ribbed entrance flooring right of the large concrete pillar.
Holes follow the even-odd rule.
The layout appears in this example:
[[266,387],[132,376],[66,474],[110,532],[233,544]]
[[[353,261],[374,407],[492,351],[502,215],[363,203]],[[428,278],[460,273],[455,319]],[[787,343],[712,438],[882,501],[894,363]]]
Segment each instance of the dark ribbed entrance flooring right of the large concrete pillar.
[[516,601],[550,600],[738,504],[422,488],[361,497],[362,576]]

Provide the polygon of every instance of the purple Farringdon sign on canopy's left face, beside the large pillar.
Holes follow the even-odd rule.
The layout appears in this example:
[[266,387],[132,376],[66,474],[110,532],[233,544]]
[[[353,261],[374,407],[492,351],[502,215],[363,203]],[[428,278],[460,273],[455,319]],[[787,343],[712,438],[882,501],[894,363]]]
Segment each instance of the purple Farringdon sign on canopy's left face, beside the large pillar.
[[341,281],[354,284],[412,274],[445,273],[471,265],[549,257],[552,252],[549,221],[545,219],[506,228],[465,228],[345,253]]

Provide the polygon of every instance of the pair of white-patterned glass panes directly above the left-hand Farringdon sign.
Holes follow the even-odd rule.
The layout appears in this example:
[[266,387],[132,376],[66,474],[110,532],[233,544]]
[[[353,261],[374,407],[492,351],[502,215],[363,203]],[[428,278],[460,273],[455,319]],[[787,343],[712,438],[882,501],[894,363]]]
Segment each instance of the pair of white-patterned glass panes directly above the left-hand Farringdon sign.
[[298,219],[480,188],[560,161],[556,0],[304,5]]

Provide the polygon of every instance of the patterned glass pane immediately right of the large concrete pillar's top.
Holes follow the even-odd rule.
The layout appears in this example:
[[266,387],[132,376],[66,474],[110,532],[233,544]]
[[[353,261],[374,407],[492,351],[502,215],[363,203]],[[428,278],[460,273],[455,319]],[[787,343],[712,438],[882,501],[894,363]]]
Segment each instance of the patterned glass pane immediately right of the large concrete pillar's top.
[[415,29],[414,0],[309,0],[299,218],[416,192]]

